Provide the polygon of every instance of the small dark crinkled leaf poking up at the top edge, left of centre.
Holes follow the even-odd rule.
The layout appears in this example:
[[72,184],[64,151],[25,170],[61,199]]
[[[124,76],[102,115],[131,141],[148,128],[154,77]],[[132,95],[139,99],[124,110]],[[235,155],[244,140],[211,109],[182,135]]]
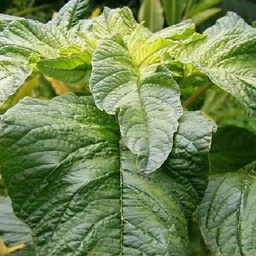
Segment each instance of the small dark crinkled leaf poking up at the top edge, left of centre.
[[75,26],[79,20],[89,18],[92,11],[90,0],[70,0],[58,12],[56,18],[50,23],[70,29]]

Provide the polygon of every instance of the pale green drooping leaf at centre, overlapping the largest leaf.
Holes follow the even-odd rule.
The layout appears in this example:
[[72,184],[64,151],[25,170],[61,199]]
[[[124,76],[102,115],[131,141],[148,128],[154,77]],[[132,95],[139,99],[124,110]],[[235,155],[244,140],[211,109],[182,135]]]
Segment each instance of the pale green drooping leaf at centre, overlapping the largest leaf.
[[103,39],[92,57],[89,86],[99,109],[114,114],[120,108],[124,143],[138,155],[138,167],[152,172],[171,151],[182,114],[180,91],[164,66],[148,71],[149,63],[159,61],[158,55],[154,57],[157,44],[145,43],[144,51],[134,42],[129,46],[130,51],[118,35]]

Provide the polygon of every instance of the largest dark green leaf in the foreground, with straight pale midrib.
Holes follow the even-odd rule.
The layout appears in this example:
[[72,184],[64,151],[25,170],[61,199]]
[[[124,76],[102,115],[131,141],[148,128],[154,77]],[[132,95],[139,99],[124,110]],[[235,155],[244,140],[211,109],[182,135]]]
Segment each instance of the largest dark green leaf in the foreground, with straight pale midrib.
[[[205,141],[194,130],[202,148],[205,127]],[[2,116],[0,129],[2,174],[40,256],[189,255],[186,219],[172,190],[189,193],[190,186],[173,182],[169,170],[142,174],[136,156],[119,144],[114,117],[91,97],[25,98]],[[173,168],[179,171],[177,163]]]

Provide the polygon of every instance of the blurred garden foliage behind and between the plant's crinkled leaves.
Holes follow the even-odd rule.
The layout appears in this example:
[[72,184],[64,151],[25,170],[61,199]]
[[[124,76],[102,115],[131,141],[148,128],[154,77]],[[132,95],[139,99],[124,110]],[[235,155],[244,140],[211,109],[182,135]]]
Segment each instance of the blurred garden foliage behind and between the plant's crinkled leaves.
[[[0,0],[0,13],[45,23],[66,2],[68,0]],[[91,4],[96,10],[92,12],[92,16],[100,14],[104,6],[110,8],[128,6],[138,22],[145,20],[144,25],[153,32],[188,18],[194,20],[198,32],[203,32],[228,11],[238,13],[246,22],[256,27],[256,0],[91,0]],[[191,95],[201,90],[200,95],[186,108],[201,109],[206,116],[214,119],[218,124],[219,129],[213,137],[210,151],[210,175],[225,170],[236,171],[253,160],[256,152],[256,120],[246,116],[235,98],[213,84],[205,86],[202,90],[209,81],[200,74],[187,76],[178,82],[182,102],[188,101]],[[50,99],[67,91],[69,91],[68,86],[62,82],[34,73],[8,104],[14,106],[24,96]],[[5,108],[0,109],[0,113],[5,110]],[[243,158],[240,157],[241,152],[244,152]],[[4,250],[15,246],[16,239],[18,243],[26,242],[26,246],[14,250],[11,255],[34,256],[32,240],[29,238],[26,226],[20,229],[20,233],[12,234],[11,224],[21,226],[24,224],[14,216],[0,178],[0,218],[2,216],[3,219],[6,215],[9,218],[4,222],[0,219],[0,255],[7,255],[8,253],[3,253]],[[10,223],[6,225],[8,221]],[[189,222],[189,236],[192,256],[211,256],[201,236],[196,213]],[[29,242],[24,238],[30,239]]]

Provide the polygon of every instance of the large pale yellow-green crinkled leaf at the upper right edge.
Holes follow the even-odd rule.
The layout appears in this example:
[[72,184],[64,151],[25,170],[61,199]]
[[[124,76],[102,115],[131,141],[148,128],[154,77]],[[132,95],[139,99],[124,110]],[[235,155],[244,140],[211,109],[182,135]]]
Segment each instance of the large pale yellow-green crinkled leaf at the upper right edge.
[[229,12],[205,34],[205,40],[192,42],[176,58],[192,63],[214,84],[236,97],[249,114],[255,115],[255,28]]

